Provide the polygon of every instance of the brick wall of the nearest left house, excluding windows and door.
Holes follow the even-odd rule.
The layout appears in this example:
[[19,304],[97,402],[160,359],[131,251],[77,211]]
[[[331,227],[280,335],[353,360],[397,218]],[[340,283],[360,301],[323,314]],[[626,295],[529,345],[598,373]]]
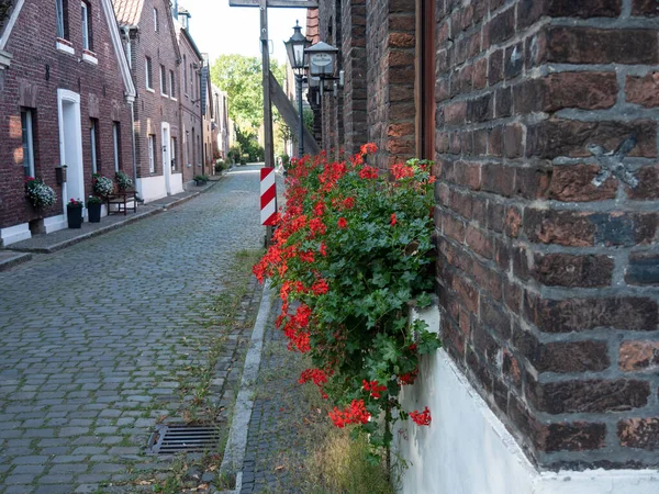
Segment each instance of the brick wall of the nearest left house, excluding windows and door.
[[[60,165],[57,89],[80,94],[86,195],[91,193],[90,117],[98,117],[99,124],[99,171],[114,177],[112,122],[116,120],[121,124],[122,168],[132,175],[131,116],[118,57],[100,2],[92,0],[89,5],[96,66],[79,61],[82,55],[79,8],[68,11],[68,40],[75,55],[55,48],[55,2],[25,2],[11,33],[5,50],[13,58],[10,67],[0,71],[0,227],[62,214],[62,187],[55,179],[55,168]],[[49,80],[46,80],[46,65]],[[25,200],[21,106],[34,111],[35,175],[43,178],[57,197],[55,205],[41,212]]]

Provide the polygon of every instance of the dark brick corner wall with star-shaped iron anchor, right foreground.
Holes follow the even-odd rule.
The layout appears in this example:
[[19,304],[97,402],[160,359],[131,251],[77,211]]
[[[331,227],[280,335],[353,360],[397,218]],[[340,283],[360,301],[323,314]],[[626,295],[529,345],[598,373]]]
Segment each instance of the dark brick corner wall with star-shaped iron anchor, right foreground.
[[[658,13],[437,5],[443,336],[547,468],[657,464]],[[639,186],[593,186],[588,144],[634,131]]]

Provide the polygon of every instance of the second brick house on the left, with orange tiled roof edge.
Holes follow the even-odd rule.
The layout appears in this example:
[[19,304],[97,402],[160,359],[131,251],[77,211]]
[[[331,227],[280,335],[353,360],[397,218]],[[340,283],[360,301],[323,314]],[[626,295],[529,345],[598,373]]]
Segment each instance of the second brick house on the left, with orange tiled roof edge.
[[148,202],[183,191],[179,128],[181,56],[168,0],[115,0],[114,11],[137,90],[136,189]]

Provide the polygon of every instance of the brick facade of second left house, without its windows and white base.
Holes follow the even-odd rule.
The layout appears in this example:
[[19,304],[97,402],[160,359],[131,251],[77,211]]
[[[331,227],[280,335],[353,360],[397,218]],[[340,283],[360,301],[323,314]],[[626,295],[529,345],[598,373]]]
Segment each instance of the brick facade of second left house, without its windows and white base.
[[[154,27],[153,9],[158,10],[158,31]],[[160,65],[165,66],[167,76],[169,70],[177,75],[180,87],[179,65],[175,49],[176,35],[171,32],[171,24],[167,22],[170,15],[167,2],[161,0],[146,0],[143,4],[142,16],[137,33],[133,33],[133,82],[137,91],[135,100],[135,154],[137,160],[137,177],[163,176],[163,131],[161,123],[170,125],[170,137],[177,143],[181,142],[179,125],[179,102],[160,94]],[[174,37],[172,37],[174,36]],[[146,57],[152,59],[153,92],[146,89]],[[197,79],[198,80],[198,79]],[[169,81],[167,82],[169,92]],[[149,172],[148,136],[156,136],[155,171]]]

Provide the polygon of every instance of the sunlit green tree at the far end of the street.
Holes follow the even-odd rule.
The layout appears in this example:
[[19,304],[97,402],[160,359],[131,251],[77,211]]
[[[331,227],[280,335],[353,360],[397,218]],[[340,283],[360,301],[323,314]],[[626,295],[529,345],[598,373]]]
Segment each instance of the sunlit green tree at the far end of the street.
[[[277,60],[270,70],[283,80],[284,69]],[[264,121],[261,61],[244,55],[221,55],[211,67],[211,79],[228,94],[228,116],[245,131],[258,130]]]

